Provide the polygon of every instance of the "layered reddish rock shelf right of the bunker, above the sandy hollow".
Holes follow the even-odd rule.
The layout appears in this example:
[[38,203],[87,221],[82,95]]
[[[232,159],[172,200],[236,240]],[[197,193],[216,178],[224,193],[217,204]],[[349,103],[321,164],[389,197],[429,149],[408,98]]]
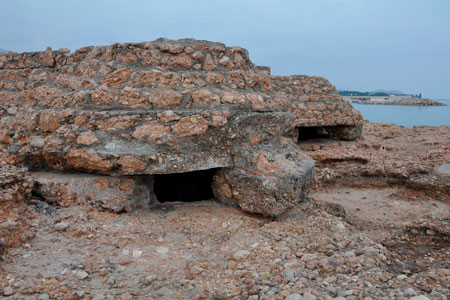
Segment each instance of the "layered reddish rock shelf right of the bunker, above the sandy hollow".
[[450,126],[405,128],[366,121],[358,140],[317,138],[298,145],[317,162],[317,186],[400,184],[450,200],[450,177],[437,171],[450,163]]

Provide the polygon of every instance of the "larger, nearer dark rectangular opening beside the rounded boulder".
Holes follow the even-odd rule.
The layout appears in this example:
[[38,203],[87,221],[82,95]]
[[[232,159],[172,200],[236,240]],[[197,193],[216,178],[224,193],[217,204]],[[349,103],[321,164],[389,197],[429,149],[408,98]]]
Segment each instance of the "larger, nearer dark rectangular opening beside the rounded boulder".
[[154,175],[153,188],[159,202],[195,202],[214,197],[212,179],[216,169]]

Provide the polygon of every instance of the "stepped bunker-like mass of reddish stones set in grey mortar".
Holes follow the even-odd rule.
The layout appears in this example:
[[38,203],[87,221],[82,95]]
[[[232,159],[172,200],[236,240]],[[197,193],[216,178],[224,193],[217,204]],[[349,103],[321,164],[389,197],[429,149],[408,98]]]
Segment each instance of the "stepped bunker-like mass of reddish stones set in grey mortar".
[[312,184],[297,128],[355,139],[362,126],[326,79],[271,76],[243,48],[191,39],[0,54],[0,117],[2,160],[61,205],[149,205],[153,175],[217,169],[219,201],[268,216]]

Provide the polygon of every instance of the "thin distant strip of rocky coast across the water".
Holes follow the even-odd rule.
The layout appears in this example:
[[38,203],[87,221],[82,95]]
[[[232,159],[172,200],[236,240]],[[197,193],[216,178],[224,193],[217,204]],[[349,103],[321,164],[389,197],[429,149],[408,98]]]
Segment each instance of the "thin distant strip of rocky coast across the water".
[[343,96],[344,101],[368,105],[447,106],[428,98],[407,96]]

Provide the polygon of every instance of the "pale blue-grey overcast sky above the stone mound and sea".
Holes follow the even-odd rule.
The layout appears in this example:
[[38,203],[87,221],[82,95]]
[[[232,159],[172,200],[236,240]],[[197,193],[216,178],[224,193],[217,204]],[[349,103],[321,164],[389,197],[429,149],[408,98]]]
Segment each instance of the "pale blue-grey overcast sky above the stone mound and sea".
[[449,0],[3,0],[0,28],[16,52],[192,37],[275,75],[450,98]]

